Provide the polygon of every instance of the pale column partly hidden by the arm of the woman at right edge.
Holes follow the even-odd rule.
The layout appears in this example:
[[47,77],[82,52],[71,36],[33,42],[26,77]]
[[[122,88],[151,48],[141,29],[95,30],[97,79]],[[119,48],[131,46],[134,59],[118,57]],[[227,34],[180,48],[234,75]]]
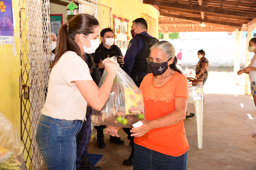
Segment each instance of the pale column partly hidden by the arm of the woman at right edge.
[[[252,39],[252,25],[248,26],[247,29],[247,41],[246,48],[248,47],[249,41]],[[246,49],[245,67],[248,67],[251,60],[251,53]],[[250,87],[249,74],[244,74],[244,94],[248,94],[248,88]]]

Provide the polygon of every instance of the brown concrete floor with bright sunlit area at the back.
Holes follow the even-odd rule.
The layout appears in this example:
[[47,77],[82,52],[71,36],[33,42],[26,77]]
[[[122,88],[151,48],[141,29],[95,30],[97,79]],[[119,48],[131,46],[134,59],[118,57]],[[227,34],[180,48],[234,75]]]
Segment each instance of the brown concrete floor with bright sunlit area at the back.
[[[243,81],[243,77],[239,78]],[[244,95],[244,88],[233,84],[232,79],[233,73],[209,72],[204,87],[207,104],[203,111],[202,149],[197,148],[196,116],[184,120],[190,146],[188,170],[256,169],[256,137],[252,137],[256,133],[256,109],[252,98]],[[187,110],[194,113],[194,105],[188,104]],[[251,114],[253,120],[247,114]],[[125,145],[110,143],[109,135],[105,134],[106,149],[98,149],[96,140],[88,146],[89,153],[104,155],[97,163],[103,170],[133,169],[122,165],[130,154],[129,141],[122,129],[119,134]]]

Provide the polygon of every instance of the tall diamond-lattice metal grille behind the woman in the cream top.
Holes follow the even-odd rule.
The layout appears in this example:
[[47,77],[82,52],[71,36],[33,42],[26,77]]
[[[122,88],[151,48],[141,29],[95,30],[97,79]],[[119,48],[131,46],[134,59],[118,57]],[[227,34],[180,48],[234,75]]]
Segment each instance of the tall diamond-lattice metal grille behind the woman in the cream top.
[[45,169],[36,144],[50,64],[49,0],[19,0],[21,46],[21,141],[27,169]]

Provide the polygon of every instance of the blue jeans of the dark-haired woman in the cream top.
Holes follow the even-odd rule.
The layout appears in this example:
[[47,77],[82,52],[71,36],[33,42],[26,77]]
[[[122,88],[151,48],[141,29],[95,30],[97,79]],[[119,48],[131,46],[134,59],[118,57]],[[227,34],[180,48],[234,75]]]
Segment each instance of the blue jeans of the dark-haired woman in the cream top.
[[81,126],[81,120],[41,116],[36,140],[48,170],[76,169],[76,136]]

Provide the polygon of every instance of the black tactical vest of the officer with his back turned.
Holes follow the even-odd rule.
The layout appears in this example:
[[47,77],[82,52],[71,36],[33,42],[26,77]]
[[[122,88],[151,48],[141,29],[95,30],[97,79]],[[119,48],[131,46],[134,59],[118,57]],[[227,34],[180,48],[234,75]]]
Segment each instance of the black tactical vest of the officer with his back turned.
[[150,38],[145,35],[136,34],[135,36],[140,36],[145,44],[144,49],[138,54],[138,57],[135,59],[132,72],[136,71],[136,73],[151,73],[152,70],[150,68],[149,63],[147,63],[146,58],[150,56],[150,48],[158,42],[156,38]]

